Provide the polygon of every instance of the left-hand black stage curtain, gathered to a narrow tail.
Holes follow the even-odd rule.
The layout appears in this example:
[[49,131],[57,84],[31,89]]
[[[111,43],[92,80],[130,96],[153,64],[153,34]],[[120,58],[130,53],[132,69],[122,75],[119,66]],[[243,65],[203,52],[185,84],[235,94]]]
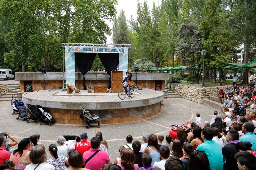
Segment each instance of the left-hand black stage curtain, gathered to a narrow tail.
[[[95,57],[96,57],[96,53],[75,53],[76,67],[83,74],[83,76],[92,67],[92,63]],[[86,90],[85,78],[83,79],[83,82],[84,82],[84,90]]]

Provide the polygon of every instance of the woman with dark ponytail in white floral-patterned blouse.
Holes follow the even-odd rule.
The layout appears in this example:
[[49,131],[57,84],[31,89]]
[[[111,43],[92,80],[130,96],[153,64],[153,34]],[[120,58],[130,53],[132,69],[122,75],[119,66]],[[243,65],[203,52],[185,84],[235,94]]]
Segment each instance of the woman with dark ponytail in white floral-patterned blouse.
[[68,165],[68,158],[64,155],[57,154],[58,148],[56,144],[50,144],[49,152],[52,158],[48,159],[46,163],[53,165],[56,170],[67,169],[67,166],[65,165],[65,163]]

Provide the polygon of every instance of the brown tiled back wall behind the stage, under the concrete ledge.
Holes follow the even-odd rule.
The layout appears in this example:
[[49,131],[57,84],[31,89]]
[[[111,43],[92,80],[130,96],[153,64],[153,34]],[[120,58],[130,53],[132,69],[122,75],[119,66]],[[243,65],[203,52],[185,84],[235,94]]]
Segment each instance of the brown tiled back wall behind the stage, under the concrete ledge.
[[[135,83],[135,80],[132,80]],[[25,81],[25,83],[28,81]],[[44,81],[36,80],[31,81],[32,82],[32,88],[33,92],[39,90],[41,87],[44,86]],[[162,90],[164,90],[165,81],[162,80]],[[88,86],[90,89],[93,89],[93,85],[107,85],[108,86],[108,80],[86,80],[85,85]],[[155,90],[155,80],[138,80],[137,85],[140,88],[149,88],[152,90]],[[48,89],[59,89],[61,86],[63,86],[63,81],[61,80],[47,80],[45,81],[45,86]],[[76,88],[78,88],[78,80],[76,80]],[[83,89],[83,80],[79,80],[79,89]],[[24,81],[20,80],[20,91],[24,91]]]

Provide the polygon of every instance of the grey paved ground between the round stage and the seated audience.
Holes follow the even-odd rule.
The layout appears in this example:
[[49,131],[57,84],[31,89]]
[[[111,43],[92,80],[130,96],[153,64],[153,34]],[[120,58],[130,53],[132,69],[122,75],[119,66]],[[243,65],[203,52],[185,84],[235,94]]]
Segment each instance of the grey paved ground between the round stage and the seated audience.
[[[100,131],[103,139],[108,142],[108,153],[111,163],[118,157],[118,148],[124,144],[127,135],[132,135],[134,140],[141,141],[141,135],[144,132],[148,134],[169,134],[170,124],[182,124],[186,121],[195,121],[196,113],[201,114],[202,122],[210,121],[215,109],[204,105],[185,100],[185,99],[164,99],[162,102],[162,111],[159,115],[130,123],[105,124],[100,128],[92,126],[85,129],[84,125],[62,125],[53,124],[49,126],[43,124],[37,125],[37,122],[26,123],[22,120],[16,120],[16,115],[12,115],[10,102],[0,102],[0,131],[9,132],[12,137],[20,141],[24,137],[29,137],[39,133],[41,143],[45,145],[46,150],[52,143],[56,144],[56,139],[61,135],[80,135],[81,132],[87,132],[88,138],[92,138],[95,132]],[[165,142],[165,141],[164,141]],[[49,153],[48,158],[50,158]]]

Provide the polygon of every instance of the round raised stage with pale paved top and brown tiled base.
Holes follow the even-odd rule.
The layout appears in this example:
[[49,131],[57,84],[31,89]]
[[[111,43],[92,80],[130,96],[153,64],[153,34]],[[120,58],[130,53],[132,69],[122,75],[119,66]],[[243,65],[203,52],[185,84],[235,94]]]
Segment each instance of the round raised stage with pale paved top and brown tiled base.
[[100,118],[100,123],[132,122],[157,115],[161,109],[164,92],[144,88],[135,91],[133,98],[118,98],[117,93],[67,94],[61,90],[40,90],[22,95],[24,103],[46,107],[57,123],[85,124],[79,119],[81,108],[88,109],[91,114]]

